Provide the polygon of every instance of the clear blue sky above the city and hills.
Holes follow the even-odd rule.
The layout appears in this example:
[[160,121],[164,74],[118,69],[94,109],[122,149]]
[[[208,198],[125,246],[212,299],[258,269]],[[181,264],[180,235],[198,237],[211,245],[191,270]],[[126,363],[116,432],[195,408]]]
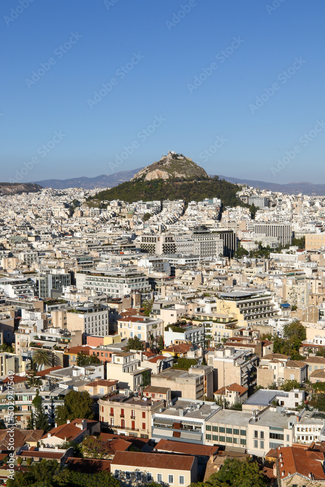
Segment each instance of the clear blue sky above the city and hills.
[[209,174],[325,183],[324,18],[322,0],[1,0],[0,180],[174,150]]

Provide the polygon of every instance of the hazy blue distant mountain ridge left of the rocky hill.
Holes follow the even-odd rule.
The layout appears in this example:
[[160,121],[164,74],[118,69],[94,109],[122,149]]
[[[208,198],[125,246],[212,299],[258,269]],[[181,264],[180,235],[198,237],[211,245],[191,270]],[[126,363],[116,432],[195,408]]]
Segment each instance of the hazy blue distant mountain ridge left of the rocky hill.
[[136,172],[142,168],[132,171],[120,171],[114,174],[101,174],[94,178],[80,177],[71,179],[45,179],[36,181],[42,187],[52,187],[54,189],[67,189],[69,187],[82,187],[84,189],[94,189],[95,187],[114,187],[124,181],[129,181]]

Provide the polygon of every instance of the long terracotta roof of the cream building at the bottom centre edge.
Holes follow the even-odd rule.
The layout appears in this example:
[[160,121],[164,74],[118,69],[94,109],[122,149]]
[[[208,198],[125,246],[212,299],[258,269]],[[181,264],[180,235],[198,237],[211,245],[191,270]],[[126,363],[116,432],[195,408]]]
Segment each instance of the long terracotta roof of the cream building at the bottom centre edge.
[[112,466],[164,468],[166,470],[181,471],[191,470],[193,463],[194,458],[192,456],[137,451],[117,451],[112,460]]

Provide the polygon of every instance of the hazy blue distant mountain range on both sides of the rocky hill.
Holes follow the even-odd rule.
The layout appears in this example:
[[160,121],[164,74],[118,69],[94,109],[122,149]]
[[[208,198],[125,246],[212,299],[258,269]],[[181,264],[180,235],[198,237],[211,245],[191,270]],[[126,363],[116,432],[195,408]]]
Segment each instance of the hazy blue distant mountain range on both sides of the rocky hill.
[[[84,189],[94,189],[115,187],[126,181],[130,181],[134,175],[143,168],[133,169],[131,171],[120,171],[114,174],[101,174],[95,178],[72,178],[72,179],[46,179],[44,181],[35,181],[36,184],[42,187],[53,187],[54,189],[67,189],[69,187],[82,187]],[[144,171],[143,171],[144,172]],[[298,183],[268,183],[266,181],[255,181],[252,179],[239,179],[228,176],[219,175],[220,179],[225,179],[233,184],[247,184],[248,186],[259,187],[260,189],[269,189],[270,191],[287,193],[287,194],[308,194],[323,196],[325,195],[325,184],[313,184],[305,181]]]

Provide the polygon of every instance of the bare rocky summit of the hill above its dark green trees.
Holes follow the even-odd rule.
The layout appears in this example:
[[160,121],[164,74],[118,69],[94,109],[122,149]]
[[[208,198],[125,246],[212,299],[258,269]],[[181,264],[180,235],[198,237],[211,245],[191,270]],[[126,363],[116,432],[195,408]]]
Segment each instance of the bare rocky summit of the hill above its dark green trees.
[[189,157],[169,151],[167,155],[162,156],[160,161],[154,162],[134,174],[130,181],[141,178],[151,181],[153,179],[167,180],[171,178],[209,178],[209,176],[203,168],[200,168]]

